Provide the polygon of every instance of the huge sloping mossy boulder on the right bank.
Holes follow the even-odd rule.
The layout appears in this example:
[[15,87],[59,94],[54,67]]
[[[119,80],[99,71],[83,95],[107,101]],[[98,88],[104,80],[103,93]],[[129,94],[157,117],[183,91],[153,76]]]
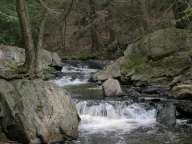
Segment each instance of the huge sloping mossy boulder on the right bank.
[[131,80],[169,83],[192,64],[192,33],[169,28],[144,36],[128,46],[124,56],[96,74],[98,80],[129,77]]

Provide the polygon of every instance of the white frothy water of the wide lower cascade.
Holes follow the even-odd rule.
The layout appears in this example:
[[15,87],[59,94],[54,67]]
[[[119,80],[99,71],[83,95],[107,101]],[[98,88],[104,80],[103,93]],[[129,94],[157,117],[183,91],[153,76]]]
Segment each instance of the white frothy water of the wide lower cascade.
[[140,126],[155,123],[155,109],[145,104],[130,104],[127,101],[79,101],[77,110],[82,119],[80,130],[87,132],[129,132]]

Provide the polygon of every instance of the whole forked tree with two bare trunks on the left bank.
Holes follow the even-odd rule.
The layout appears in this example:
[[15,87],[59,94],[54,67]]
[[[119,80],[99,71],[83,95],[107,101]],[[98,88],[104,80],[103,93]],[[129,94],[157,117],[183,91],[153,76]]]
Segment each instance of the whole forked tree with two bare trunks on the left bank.
[[74,0],[71,0],[70,7],[65,12],[65,10],[63,9],[49,8],[43,0],[38,1],[43,8],[44,15],[39,26],[38,42],[35,45],[32,36],[32,28],[28,13],[27,0],[16,0],[16,10],[19,17],[21,35],[23,37],[25,48],[25,63],[18,68],[18,72],[29,74],[32,77],[37,76],[37,74],[39,73],[39,49],[43,45],[44,27],[48,14],[63,13],[64,14],[63,21],[66,23],[67,16],[70,14],[74,2]]

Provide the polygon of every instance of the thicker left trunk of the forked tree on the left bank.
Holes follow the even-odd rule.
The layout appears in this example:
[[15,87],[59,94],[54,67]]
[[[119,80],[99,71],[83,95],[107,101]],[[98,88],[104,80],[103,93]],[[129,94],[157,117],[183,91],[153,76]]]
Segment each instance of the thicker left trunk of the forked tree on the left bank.
[[19,16],[21,32],[25,44],[25,63],[23,65],[23,72],[36,73],[36,54],[26,0],[17,0],[16,9]]

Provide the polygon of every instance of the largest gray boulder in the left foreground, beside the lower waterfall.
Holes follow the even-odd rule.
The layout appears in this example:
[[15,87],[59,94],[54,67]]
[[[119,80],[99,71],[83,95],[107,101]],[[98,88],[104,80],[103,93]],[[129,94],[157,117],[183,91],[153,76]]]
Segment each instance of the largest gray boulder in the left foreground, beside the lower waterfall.
[[8,139],[40,143],[76,137],[79,117],[69,94],[41,80],[0,80],[1,129]]

